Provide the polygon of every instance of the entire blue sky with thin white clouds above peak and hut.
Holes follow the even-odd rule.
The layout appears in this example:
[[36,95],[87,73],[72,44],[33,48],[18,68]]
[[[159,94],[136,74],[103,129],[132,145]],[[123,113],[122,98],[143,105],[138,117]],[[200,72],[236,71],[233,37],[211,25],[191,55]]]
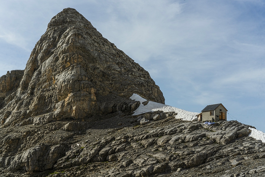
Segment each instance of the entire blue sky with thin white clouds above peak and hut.
[[265,1],[9,0],[0,7],[0,75],[24,69],[50,19],[72,7],[147,70],[165,103],[265,132]]

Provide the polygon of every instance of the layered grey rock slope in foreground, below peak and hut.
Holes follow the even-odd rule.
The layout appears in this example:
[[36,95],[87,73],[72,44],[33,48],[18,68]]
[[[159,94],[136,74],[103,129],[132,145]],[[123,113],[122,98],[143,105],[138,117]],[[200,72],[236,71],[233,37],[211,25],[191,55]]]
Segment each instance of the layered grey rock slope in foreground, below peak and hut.
[[1,128],[0,176],[265,175],[265,144],[242,133],[251,126],[137,119],[115,112]]

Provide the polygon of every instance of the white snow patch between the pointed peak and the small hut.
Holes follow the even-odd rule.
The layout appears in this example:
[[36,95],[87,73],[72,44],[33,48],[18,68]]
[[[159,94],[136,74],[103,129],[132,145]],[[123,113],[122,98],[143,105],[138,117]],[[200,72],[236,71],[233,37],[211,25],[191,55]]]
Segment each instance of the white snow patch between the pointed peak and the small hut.
[[137,94],[133,94],[130,99],[135,101],[140,101],[141,105],[134,111],[134,114],[132,115],[139,115],[146,112],[154,112],[154,111],[164,111],[164,112],[176,112],[178,115],[176,115],[176,119],[182,119],[182,120],[188,120],[193,121],[196,119],[196,115],[199,114],[198,112],[189,112],[185,111],[183,109],[175,108],[173,106],[168,106],[166,104],[156,103],[153,101],[149,101],[147,105],[143,105],[142,103],[144,101],[147,101],[146,99],[142,98],[141,96]]

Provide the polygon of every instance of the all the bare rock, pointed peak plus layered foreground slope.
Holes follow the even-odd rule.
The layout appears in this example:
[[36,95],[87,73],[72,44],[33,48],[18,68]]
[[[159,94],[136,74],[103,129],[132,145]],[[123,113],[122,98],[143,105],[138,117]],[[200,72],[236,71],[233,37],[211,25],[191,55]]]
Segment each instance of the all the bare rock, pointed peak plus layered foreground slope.
[[0,176],[265,176],[251,126],[132,115],[148,104],[133,93],[164,104],[147,71],[64,9],[25,70],[0,78]]

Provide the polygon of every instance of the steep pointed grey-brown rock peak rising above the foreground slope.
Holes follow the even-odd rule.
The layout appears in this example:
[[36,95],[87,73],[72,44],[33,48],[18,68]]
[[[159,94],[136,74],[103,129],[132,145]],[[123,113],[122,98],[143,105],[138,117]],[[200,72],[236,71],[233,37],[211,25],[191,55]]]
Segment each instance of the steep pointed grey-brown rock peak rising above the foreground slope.
[[147,71],[67,8],[51,19],[25,70],[1,77],[0,125],[82,119],[126,105],[131,111],[138,104],[128,101],[133,93],[165,101]]

